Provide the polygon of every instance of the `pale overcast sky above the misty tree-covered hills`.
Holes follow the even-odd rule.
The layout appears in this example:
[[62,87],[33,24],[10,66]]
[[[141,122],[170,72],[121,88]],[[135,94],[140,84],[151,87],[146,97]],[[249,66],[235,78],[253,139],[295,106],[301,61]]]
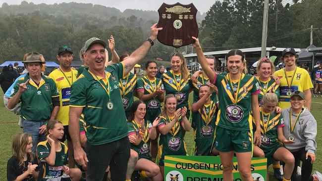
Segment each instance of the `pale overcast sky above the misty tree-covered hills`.
[[[8,4],[20,4],[22,0],[0,0],[0,5],[3,2]],[[167,4],[174,4],[180,2],[182,4],[194,3],[198,11],[201,13],[207,12],[215,3],[215,0],[26,0],[35,4],[46,3],[54,4],[61,2],[82,2],[101,4],[108,7],[115,7],[121,11],[125,9],[142,9],[142,10],[158,10],[163,2]]]

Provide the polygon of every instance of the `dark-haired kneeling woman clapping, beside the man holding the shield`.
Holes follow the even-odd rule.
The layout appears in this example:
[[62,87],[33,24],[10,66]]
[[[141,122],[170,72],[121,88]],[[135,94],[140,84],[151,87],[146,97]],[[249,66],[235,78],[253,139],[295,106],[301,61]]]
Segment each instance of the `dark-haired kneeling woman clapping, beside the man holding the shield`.
[[141,100],[136,100],[132,104],[130,117],[128,119],[128,136],[131,148],[139,154],[139,159],[135,165],[143,178],[151,178],[152,181],[161,181],[162,175],[160,168],[152,162],[150,156],[150,140],[156,139],[156,128],[160,122],[157,117],[153,124],[149,120],[144,120],[147,112],[146,105]]

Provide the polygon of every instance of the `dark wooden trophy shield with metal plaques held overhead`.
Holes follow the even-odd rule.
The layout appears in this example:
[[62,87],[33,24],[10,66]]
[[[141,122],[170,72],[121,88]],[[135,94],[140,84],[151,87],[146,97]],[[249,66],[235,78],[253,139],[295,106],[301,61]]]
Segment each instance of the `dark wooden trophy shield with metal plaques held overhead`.
[[164,45],[178,48],[194,42],[191,37],[198,38],[196,20],[197,8],[193,3],[175,4],[163,3],[158,9],[159,22],[157,27],[163,29],[158,33],[158,40]]

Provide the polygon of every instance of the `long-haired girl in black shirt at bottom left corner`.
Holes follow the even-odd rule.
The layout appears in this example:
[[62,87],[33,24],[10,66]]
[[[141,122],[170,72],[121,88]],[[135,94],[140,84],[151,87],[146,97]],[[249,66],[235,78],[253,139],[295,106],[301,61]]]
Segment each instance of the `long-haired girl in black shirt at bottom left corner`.
[[14,136],[12,141],[12,157],[7,163],[8,181],[35,181],[38,172],[36,156],[32,153],[32,138],[26,133]]

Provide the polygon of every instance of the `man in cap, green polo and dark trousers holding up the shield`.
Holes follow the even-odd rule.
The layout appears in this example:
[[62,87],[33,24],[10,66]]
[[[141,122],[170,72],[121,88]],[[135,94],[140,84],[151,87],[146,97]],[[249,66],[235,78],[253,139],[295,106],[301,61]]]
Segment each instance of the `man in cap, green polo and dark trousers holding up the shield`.
[[[91,38],[84,45],[84,58],[88,60],[89,68],[71,86],[69,134],[75,160],[83,167],[88,162],[87,181],[101,181],[108,165],[112,181],[125,180],[130,142],[118,80],[145,57],[161,29],[154,24],[150,38],[143,45],[124,61],[107,68],[104,67],[106,42]],[[87,125],[87,155],[80,145],[81,113]]]

